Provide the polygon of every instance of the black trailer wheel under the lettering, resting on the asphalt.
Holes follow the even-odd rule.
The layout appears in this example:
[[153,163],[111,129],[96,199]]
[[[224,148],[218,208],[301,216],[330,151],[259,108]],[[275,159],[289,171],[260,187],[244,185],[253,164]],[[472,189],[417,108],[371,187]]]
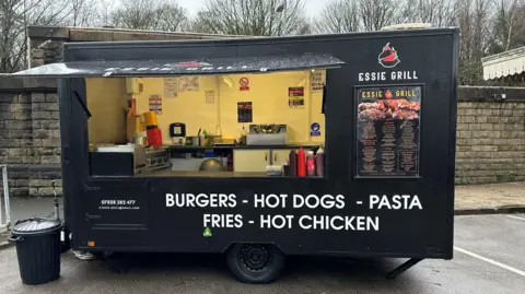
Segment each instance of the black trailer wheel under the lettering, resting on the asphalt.
[[284,254],[269,244],[234,244],[226,252],[230,271],[241,282],[266,284],[284,268]]

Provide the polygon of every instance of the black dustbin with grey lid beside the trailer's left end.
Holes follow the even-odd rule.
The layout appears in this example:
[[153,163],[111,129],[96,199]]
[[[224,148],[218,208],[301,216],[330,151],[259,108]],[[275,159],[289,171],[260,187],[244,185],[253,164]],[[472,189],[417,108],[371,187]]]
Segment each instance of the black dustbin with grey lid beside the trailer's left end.
[[51,282],[60,275],[60,220],[28,219],[14,224],[20,277],[24,284]]

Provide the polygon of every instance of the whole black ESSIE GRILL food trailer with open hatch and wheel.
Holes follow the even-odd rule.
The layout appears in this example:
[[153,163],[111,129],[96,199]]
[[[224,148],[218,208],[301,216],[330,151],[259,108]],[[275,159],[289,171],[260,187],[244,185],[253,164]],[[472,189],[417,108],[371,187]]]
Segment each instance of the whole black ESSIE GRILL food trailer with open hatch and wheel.
[[73,250],[224,252],[265,283],[288,255],[452,259],[457,66],[430,28],[70,43],[14,75],[59,79]]

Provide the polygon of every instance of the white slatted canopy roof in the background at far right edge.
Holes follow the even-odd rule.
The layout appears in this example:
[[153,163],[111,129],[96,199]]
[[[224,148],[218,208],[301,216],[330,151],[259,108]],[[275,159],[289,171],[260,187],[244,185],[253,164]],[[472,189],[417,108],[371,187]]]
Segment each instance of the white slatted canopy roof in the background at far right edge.
[[525,72],[525,47],[481,59],[483,79],[493,80]]

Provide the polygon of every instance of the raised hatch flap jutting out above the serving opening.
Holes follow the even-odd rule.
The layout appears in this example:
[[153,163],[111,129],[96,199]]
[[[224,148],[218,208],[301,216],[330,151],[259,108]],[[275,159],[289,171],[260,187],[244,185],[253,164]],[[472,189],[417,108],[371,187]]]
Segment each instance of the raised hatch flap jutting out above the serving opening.
[[45,64],[12,75],[21,78],[202,75],[330,69],[340,68],[342,64],[345,62],[340,59],[324,54],[196,60],[72,61]]

